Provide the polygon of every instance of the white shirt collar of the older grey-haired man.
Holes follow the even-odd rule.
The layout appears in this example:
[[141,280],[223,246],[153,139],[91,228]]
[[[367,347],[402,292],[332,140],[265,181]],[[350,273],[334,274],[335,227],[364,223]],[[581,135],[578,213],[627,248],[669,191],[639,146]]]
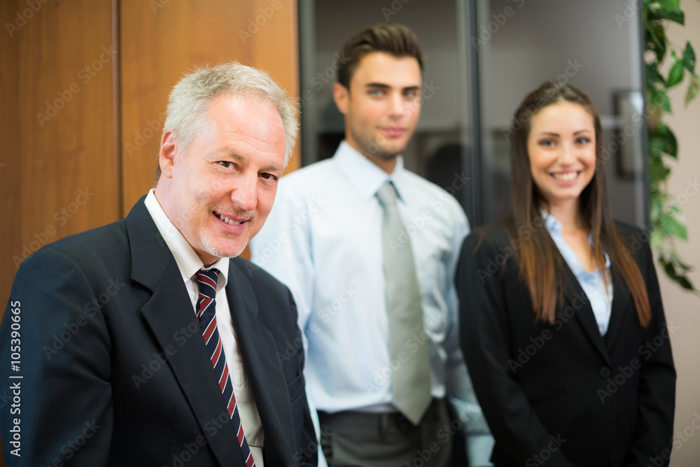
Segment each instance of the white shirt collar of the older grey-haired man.
[[[177,266],[182,274],[183,281],[188,281],[204,267],[204,263],[195,249],[188,243],[188,241],[183,237],[175,225],[170,221],[170,218],[165,214],[163,208],[160,206],[160,202],[155,197],[155,190],[151,189],[146,195],[146,209],[151,214],[155,226],[158,227],[160,235],[165,240],[170,251],[175,257]],[[216,268],[219,272],[218,284],[221,287],[225,287],[228,284],[228,263],[229,258],[219,258],[216,263],[207,267],[207,269]],[[219,288],[217,286],[217,288]]]

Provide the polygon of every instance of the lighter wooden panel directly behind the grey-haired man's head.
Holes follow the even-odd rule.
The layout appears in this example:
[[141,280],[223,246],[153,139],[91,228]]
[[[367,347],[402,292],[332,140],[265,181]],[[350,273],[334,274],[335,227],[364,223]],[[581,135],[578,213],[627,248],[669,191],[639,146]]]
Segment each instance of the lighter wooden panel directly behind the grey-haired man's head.
[[296,8],[288,0],[120,2],[123,214],[153,186],[167,97],[183,74],[238,60],[297,95]]

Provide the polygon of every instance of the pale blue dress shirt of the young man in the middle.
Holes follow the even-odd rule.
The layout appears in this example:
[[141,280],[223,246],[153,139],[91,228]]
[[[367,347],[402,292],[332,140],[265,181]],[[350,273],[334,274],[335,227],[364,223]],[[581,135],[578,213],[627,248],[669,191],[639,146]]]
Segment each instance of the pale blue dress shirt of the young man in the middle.
[[293,293],[307,340],[304,374],[318,410],[395,410],[375,194],[392,181],[410,236],[430,348],[431,392],[465,424],[472,462],[488,463],[492,438],[459,346],[454,268],[468,221],[445,190],[408,172],[386,174],[345,141],[335,156],[284,176],[253,240],[253,263]]

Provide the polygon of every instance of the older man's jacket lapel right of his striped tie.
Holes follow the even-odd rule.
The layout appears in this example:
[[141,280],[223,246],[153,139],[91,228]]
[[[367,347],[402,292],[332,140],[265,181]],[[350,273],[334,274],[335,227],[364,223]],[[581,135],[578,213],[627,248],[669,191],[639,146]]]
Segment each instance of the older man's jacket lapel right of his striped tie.
[[291,459],[285,459],[283,453],[293,452],[286,436],[293,432],[286,379],[276,358],[274,336],[258,321],[258,302],[253,288],[233,261],[226,293],[244,368],[265,433],[265,463],[286,465]]

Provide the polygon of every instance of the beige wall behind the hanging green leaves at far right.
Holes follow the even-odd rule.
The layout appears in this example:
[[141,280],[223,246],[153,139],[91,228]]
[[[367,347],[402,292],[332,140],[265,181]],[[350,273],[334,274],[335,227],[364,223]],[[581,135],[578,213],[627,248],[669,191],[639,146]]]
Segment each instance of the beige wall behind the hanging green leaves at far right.
[[[685,27],[672,23],[668,39],[678,47],[685,47],[685,41],[690,41],[700,57],[700,2],[684,0],[680,6],[685,11]],[[700,66],[696,71],[700,71]],[[674,198],[683,195],[677,199],[679,205],[685,202],[681,209],[689,239],[687,243],[678,243],[678,251],[687,263],[695,266],[690,279],[700,288],[700,188],[697,186],[700,181],[700,99],[686,109],[683,105],[685,90],[684,84],[671,92],[674,115],[666,119],[678,137],[679,146],[678,163],[672,166],[668,189]],[[688,195],[687,201],[685,195]],[[671,336],[678,372],[671,467],[696,467],[700,464],[700,429],[692,424],[700,427],[700,297],[672,284],[658,266],[657,273],[666,319],[678,327]]]

